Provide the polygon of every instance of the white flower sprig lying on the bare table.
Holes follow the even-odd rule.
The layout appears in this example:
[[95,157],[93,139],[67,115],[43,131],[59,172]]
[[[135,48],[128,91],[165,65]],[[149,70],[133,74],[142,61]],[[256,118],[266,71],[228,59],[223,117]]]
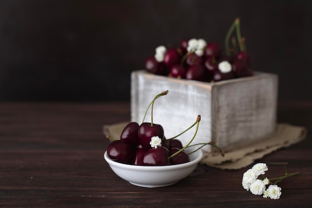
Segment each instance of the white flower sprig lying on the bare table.
[[[299,172],[288,174],[285,169],[286,174],[283,177],[268,179],[263,176],[263,179],[258,179],[258,177],[260,175],[264,175],[266,171],[268,171],[268,166],[265,163],[258,163],[254,165],[251,169],[247,170],[243,174],[242,180],[243,188],[246,189],[247,191],[250,191],[254,195],[263,195],[263,198],[271,198],[277,200],[280,199],[282,189],[278,187],[276,184],[284,178],[299,174]],[[272,180],[277,181],[275,183],[272,183]],[[269,184],[270,186],[266,189],[266,185]]]

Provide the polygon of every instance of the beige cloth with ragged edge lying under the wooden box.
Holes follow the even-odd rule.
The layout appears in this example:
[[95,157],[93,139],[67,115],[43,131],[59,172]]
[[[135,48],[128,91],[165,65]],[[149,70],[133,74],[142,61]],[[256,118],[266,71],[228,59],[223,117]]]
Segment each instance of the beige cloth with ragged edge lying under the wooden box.
[[[110,135],[112,138],[119,139],[121,132],[128,123],[129,122],[105,125],[103,127],[103,133],[104,135]],[[304,140],[306,136],[307,129],[305,127],[293,126],[290,124],[277,124],[276,131],[270,138],[225,152],[224,157],[220,154],[203,152],[201,163],[228,170],[244,168],[273,151],[289,147]]]

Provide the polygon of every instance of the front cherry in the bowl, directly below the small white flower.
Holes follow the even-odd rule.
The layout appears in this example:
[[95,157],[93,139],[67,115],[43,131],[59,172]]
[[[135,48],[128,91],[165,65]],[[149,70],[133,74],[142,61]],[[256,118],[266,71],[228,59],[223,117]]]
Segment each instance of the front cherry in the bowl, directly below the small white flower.
[[149,149],[143,156],[143,165],[145,166],[170,165],[168,153],[169,150],[164,147]]

